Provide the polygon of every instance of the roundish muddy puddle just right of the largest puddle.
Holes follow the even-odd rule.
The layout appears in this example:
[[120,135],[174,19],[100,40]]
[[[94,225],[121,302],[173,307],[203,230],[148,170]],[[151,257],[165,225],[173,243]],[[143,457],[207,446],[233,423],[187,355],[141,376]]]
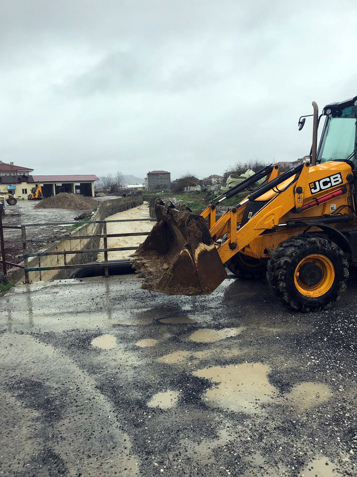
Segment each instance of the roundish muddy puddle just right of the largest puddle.
[[323,383],[300,383],[285,394],[289,404],[301,411],[306,411],[327,401],[332,396],[331,389]]

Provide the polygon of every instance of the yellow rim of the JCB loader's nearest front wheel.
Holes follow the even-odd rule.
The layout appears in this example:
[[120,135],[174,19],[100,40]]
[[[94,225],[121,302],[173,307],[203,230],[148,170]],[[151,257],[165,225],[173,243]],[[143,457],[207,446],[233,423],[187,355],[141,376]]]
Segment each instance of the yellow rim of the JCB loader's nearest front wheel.
[[297,290],[309,298],[324,295],[335,280],[335,269],[325,255],[313,254],[303,258],[294,273]]

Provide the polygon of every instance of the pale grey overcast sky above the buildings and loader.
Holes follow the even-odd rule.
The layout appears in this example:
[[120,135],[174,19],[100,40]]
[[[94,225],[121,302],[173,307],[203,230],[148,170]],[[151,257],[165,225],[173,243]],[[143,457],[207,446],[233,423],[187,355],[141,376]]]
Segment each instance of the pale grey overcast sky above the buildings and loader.
[[357,95],[356,14],[356,0],[1,0],[0,159],[174,179],[305,156],[298,117]]

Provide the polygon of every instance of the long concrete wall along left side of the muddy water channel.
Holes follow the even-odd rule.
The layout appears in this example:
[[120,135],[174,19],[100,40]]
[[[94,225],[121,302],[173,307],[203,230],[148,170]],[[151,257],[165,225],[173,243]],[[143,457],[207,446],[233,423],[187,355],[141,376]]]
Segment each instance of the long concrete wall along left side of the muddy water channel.
[[[142,196],[139,197],[122,197],[119,199],[103,200],[100,202],[99,208],[92,220],[104,220],[110,215],[137,207],[143,203]],[[77,228],[71,233],[71,237],[79,237],[82,235],[96,235],[102,231],[103,224],[86,224]],[[41,252],[54,252],[64,250],[82,250],[82,249],[98,249],[99,237],[79,240],[61,240],[51,245],[48,249]],[[66,255],[67,265],[79,265],[81,263],[93,262],[97,259],[97,252],[78,253]],[[29,259],[29,268],[31,267],[55,267],[64,265],[64,255],[47,255],[44,257],[34,257]],[[68,278],[74,269],[66,270],[44,270],[29,272],[30,281],[40,280],[59,280]]]

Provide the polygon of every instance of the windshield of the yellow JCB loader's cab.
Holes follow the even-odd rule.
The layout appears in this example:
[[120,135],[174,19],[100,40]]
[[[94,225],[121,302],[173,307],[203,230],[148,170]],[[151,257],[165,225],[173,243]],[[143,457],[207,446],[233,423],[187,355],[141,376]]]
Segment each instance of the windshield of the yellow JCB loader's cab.
[[[357,107],[349,106],[340,111],[339,117],[329,114],[321,136],[317,162],[347,159],[357,146]],[[350,157],[357,166],[356,153]]]

